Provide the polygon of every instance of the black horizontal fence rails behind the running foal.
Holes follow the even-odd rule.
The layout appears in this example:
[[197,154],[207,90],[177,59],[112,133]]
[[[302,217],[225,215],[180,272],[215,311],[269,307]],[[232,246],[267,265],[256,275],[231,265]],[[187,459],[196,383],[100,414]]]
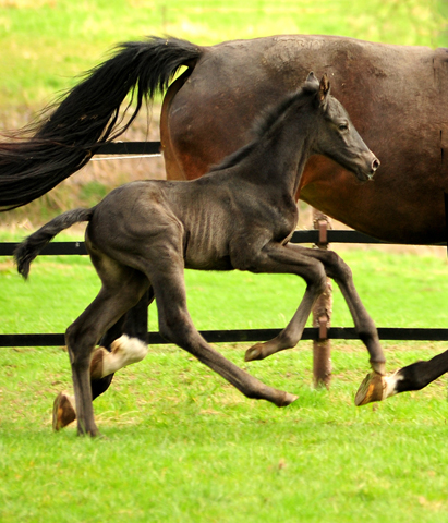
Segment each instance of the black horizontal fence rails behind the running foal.
[[[107,144],[99,154],[104,155],[157,155],[160,144],[158,142],[126,142]],[[328,243],[386,243],[358,231],[327,231]],[[296,231],[292,243],[319,243],[319,231]],[[0,243],[0,256],[12,256],[16,243]],[[41,255],[86,255],[83,242],[53,242],[50,243]],[[240,329],[240,330],[205,330],[201,333],[210,343],[257,342],[266,341],[280,332],[281,329]],[[416,341],[448,341],[448,329],[422,328],[395,328],[379,327],[382,340],[416,340]],[[303,340],[318,340],[319,329],[305,328]],[[358,340],[353,327],[330,327],[327,339]],[[149,332],[150,344],[167,343],[158,332]],[[0,335],[0,346],[61,346],[64,345],[63,333],[11,333]]]

